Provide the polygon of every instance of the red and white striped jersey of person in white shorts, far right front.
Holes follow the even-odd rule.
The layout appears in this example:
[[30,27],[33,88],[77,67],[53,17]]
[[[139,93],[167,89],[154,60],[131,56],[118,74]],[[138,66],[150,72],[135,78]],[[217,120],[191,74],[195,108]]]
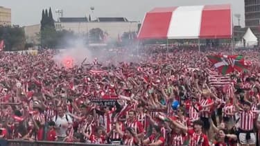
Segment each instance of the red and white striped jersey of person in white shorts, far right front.
[[240,111],[239,128],[245,131],[250,131],[254,128],[254,113],[252,111]]

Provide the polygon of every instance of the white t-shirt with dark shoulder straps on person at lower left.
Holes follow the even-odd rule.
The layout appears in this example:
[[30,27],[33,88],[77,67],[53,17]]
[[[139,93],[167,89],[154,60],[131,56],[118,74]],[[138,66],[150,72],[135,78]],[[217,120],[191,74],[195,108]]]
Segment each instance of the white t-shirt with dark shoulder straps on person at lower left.
[[[67,115],[67,119],[66,119],[66,115]],[[56,129],[56,135],[58,137],[66,137],[66,131],[68,129],[68,125],[72,124],[72,118],[71,116],[69,116],[68,114],[64,113],[64,116],[62,118],[60,118],[60,116],[56,116],[53,117],[53,121],[55,122],[56,127],[60,127],[60,129]],[[67,125],[66,127],[62,127],[62,125]]]

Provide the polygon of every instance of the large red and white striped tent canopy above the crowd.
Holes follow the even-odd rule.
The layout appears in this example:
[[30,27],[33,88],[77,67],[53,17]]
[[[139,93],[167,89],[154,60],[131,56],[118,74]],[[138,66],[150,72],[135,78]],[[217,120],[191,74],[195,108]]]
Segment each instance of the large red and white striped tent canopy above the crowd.
[[232,38],[230,5],[154,8],[138,34],[138,39],[199,38]]

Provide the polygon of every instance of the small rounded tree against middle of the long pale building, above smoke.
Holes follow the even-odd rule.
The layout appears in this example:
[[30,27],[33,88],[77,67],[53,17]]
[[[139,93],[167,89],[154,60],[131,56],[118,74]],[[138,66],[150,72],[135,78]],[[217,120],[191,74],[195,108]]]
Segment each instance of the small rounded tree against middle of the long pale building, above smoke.
[[89,30],[89,41],[94,43],[102,42],[104,38],[104,32],[101,28],[92,28]]

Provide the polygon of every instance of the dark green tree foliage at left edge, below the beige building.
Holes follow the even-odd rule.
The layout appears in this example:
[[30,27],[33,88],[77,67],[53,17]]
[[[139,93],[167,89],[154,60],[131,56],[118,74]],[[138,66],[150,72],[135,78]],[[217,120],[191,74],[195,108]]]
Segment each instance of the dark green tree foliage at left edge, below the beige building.
[[5,43],[5,51],[23,50],[25,46],[24,29],[19,27],[0,27],[0,40]]

